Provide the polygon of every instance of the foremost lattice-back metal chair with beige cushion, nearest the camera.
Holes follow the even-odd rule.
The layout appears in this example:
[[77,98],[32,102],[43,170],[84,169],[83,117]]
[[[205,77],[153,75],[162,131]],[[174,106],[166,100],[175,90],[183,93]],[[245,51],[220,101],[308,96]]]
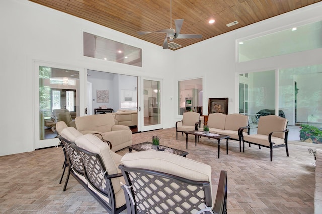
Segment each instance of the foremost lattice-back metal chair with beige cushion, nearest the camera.
[[226,213],[227,172],[212,192],[211,167],[162,151],[127,153],[119,166],[127,213]]

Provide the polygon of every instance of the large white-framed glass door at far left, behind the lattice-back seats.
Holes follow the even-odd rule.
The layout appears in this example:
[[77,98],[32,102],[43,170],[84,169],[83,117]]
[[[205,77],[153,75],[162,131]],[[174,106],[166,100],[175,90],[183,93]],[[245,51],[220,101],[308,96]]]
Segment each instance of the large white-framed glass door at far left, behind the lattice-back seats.
[[[59,121],[75,127],[79,116],[79,71],[35,63],[35,149],[58,144],[52,127]],[[37,84],[38,83],[38,84]]]

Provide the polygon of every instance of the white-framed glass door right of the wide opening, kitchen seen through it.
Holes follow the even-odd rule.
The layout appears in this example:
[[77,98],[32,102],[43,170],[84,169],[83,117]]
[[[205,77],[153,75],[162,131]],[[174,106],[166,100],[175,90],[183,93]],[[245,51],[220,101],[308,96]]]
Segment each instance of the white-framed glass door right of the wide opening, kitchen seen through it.
[[162,128],[161,81],[142,78],[141,131]]

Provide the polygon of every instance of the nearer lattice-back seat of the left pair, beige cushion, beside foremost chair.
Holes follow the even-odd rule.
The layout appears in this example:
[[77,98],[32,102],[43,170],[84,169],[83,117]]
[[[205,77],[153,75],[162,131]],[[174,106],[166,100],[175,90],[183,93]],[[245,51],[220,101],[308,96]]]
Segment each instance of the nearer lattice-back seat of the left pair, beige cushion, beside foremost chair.
[[81,184],[86,190],[108,213],[125,210],[125,195],[120,184],[125,180],[118,169],[122,156],[92,134],[76,138],[72,147],[81,156],[87,185]]

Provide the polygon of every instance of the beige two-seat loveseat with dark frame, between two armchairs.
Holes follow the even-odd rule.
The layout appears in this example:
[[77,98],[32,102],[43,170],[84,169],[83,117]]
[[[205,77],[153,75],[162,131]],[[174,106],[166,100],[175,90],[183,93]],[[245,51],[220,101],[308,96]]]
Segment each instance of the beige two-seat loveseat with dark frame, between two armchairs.
[[229,139],[238,140],[241,152],[239,131],[244,129],[244,132],[249,134],[248,116],[216,112],[208,115],[207,125],[210,133],[229,135]]

